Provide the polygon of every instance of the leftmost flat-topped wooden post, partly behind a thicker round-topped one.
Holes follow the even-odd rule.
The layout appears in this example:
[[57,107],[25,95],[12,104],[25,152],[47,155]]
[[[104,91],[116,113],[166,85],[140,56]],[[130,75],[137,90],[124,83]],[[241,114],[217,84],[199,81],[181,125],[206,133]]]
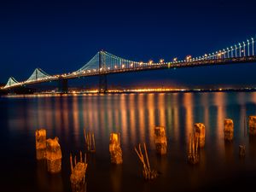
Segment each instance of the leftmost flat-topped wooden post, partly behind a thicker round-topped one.
[[37,160],[44,160],[46,151],[46,130],[36,130],[35,136]]

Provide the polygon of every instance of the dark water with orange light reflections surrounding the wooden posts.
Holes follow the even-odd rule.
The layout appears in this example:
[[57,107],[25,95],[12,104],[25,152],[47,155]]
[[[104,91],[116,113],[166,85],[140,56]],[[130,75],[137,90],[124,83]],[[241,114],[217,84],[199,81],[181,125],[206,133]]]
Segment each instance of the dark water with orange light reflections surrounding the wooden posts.
[[[209,191],[244,189],[256,177],[256,141],[244,119],[256,114],[256,93],[120,94],[0,98],[1,191],[71,191],[69,154],[84,151],[83,129],[94,131],[96,154],[89,155],[87,191]],[[224,143],[224,119],[234,120],[233,143]],[[187,163],[194,123],[206,125],[200,164]],[[154,126],[166,126],[168,154],[154,148]],[[35,157],[34,132],[59,137],[61,174],[49,175]],[[123,165],[110,164],[110,132],[121,133]],[[151,167],[160,177],[145,182],[134,151],[147,143]],[[239,144],[246,157],[239,158]]]

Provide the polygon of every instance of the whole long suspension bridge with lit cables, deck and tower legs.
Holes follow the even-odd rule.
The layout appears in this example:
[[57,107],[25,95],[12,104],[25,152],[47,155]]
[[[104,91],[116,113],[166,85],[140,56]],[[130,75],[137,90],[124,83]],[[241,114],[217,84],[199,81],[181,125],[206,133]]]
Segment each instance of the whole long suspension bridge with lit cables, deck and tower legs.
[[97,52],[96,55],[94,55],[83,67],[72,73],[49,75],[42,69],[36,68],[32,75],[25,81],[18,82],[15,78],[10,77],[7,84],[5,84],[2,89],[11,90],[29,84],[59,81],[61,84],[61,92],[67,92],[68,79],[98,76],[99,92],[106,92],[108,90],[107,75],[112,73],[256,62],[254,39],[255,38],[249,38],[241,43],[201,56],[192,57],[191,55],[188,55],[184,60],[177,60],[177,58],[174,58],[172,61],[167,62],[163,59],[158,62],[130,61],[102,50]]

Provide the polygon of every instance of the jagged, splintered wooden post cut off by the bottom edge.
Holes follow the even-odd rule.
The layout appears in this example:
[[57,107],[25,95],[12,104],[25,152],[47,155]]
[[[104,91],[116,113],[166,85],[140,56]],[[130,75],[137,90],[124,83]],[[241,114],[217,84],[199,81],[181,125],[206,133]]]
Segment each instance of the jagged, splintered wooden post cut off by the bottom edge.
[[80,161],[77,163],[77,157],[74,157],[74,166],[73,166],[73,158],[72,154],[70,154],[70,166],[71,166],[71,175],[70,182],[73,192],[85,192],[86,191],[86,183],[85,183],[85,172],[87,169],[86,163],[86,154],[83,154],[80,151]]

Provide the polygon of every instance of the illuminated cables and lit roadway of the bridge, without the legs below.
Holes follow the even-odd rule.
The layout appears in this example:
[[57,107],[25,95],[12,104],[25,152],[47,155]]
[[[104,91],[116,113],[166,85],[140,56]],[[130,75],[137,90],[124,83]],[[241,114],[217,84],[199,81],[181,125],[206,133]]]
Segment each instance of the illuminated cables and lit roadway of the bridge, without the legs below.
[[[54,81],[58,79],[73,79],[83,76],[99,75],[101,73],[123,73],[136,70],[147,70],[149,68],[157,67],[189,67],[189,65],[196,64],[197,66],[204,65],[205,63],[216,63],[226,61],[233,58],[247,58],[255,56],[255,38],[248,38],[246,41],[232,45],[225,49],[219,49],[215,52],[204,54],[197,57],[187,55],[184,60],[178,60],[175,57],[172,61],[166,62],[160,59],[158,62],[149,60],[143,61],[130,61],[119,56],[108,53],[107,51],[99,51],[91,58],[83,67],[73,73],[63,73],[57,75],[49,75],[42,69],[36,68],[29,79],[18,82],[15,78],[10,77],[7,84],[2,89],[9,89],[16,86],[26,84],[37,84],[43,82]],[[256,58],[254,58],[256,59]]]

